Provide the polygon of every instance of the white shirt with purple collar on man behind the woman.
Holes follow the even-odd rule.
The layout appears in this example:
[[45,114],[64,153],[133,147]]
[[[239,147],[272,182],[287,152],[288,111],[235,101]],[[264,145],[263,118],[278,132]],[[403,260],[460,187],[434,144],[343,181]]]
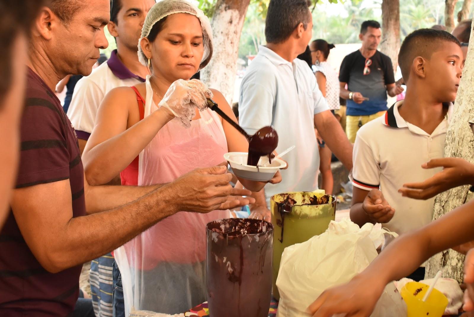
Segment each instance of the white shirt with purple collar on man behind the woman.
[[89,76],[81,78],[74,88],[67,116],[77,135],[86,139],[92,133],[95,117],[105,95],[117,87],[130,87],[145,80],[130,72],[113,51],[109,60]]

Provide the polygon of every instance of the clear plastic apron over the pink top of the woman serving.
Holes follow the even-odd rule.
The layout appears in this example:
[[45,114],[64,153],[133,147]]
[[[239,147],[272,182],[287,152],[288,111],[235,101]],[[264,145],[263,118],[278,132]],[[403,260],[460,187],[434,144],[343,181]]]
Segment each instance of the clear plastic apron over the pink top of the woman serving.
[[[157,107],[146,81],[145,117]],[[191,127],[168,122],[139,155],[138,185],[167,183],[198,167],[214,166],[228,152],[220,118],[200,112]],[[179,314],[206,300],[206,224],[228,218],[228,210],[208,214],[178,212],[118,248],[126,316],[131,308]]]

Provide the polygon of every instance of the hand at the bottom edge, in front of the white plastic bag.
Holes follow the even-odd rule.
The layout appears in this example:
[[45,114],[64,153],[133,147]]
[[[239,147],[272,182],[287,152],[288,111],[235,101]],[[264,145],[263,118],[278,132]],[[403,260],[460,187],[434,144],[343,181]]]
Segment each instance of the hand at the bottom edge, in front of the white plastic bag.
[[335,314],[368,317],[385,287],[379,284],[380,279],[371,281],[370,278],[359,274],[345,285],[325,290],[308,307],[308,312],[313,317],[331,317]]

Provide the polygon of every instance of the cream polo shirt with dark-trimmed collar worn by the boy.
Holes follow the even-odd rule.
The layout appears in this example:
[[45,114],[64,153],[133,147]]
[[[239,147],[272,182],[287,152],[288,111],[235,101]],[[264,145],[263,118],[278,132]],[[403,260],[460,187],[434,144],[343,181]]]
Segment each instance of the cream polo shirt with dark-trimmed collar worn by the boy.
[[[403,100],[359,129],[353,153],[353,185],[363,189],[378,189],[395,209],[390,222],[382,226],[399,235],[419,229],[431,222],[434,198],[427,200],[402,197],[398,190],[404,183],[424,181],[441,168],[423,169],[421,164],[443,157],[448,118],[431,135],[406,122],[398,113]],[[386,240],[387,244],[390,241]]]

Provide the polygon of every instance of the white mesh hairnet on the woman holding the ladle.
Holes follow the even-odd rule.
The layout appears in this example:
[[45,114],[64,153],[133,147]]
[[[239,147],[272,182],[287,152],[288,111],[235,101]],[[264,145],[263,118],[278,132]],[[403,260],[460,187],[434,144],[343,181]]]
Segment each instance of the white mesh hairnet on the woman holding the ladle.
[[199,18],[201,21],[204,45],[204,54],[202,55],[201,65],[199,66],[199,69],[201,70],[209,63],[212,56],[212,29],[210,27],[209,18],[204,15],[204,12],[185,0],[159,1],[150,9],[146,15],[145,23],[143,24],[142,28],[142,36],[138,42],[138,59],[140,60],[140,63],[144,64],[145,66],[148,64],[147,58],[140,45],[141,39],[150,35],[150,32],[156,22],[175,13],[189,13]]

